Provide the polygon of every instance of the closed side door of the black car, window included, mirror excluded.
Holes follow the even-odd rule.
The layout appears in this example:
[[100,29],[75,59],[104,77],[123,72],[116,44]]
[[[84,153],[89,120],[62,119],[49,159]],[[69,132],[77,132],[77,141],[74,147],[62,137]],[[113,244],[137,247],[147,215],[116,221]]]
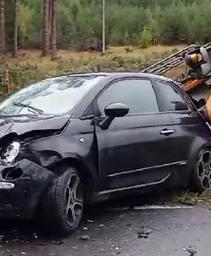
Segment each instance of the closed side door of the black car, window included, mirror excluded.
[[[114,102],[126,104],[128,115],[102,130],[104,108]],[[170,175],[175,164],[174,129],[169,115],[160,113],[151,79],[125,78],[108,84],[94,102],[94,119],[106,189],[161,183]]]

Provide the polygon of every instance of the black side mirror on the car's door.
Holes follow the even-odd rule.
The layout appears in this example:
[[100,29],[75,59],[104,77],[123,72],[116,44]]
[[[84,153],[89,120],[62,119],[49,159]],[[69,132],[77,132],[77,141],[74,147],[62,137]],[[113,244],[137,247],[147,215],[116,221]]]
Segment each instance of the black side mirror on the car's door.
[[100,123],[100,128],[103,130],[108,129],[111,125],[111,122],[116,117],[123,117],[128,114],[129,108],[123,103],[111,103],[110,105],[106,106],[104,112],[106,113],[106,119],[104,119]]

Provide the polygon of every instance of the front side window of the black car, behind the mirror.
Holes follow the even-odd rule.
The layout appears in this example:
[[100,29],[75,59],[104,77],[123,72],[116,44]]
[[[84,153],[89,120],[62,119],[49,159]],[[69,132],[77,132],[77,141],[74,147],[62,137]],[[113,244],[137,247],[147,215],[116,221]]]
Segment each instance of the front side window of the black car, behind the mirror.
[[129,114],[157,113],[157,98],[151,80],[124,79],[111,84],[97,100],[100,116],[105,116],[104,108],[122,102],[129,108]]

